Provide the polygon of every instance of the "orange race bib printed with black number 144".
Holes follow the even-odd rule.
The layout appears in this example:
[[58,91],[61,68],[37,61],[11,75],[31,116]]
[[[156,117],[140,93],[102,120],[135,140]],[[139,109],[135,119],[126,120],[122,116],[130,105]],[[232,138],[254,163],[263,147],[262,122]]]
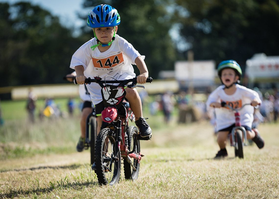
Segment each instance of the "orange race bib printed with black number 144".
[[95,59],[92,57],[92,61],[94,67],[99,70],[112,69],[112,67],[124,63],[122,52],[119,53],[118,55],[112,55],[104,59]]

